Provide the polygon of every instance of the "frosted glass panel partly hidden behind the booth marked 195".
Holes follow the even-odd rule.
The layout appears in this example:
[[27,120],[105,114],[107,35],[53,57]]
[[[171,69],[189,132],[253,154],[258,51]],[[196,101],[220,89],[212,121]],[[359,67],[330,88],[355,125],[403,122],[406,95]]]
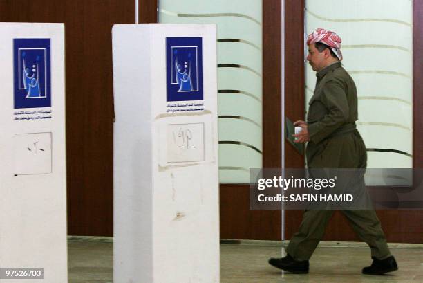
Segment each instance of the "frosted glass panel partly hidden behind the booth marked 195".
[[216,24],[220,183],[262,165],[262,1],[161,0],[160,23]]

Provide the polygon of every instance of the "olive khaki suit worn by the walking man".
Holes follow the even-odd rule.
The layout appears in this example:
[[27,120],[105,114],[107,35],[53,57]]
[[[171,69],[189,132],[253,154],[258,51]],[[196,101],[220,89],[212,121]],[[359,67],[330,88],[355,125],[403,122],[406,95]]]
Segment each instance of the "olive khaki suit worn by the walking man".
[[[340,62],[317,72],[314,95],[307,116],[310,142],[306,157],[309,168],[366,168],[363,139],[355,127],[358,119],[357,89]],[[334,210],[306,210],[299,232],[287,252],[296,260],[310,259],[323,237]],[[386,238],[374,210],[341,210],[359,238],[371,248],[373,257],[389,257]]]

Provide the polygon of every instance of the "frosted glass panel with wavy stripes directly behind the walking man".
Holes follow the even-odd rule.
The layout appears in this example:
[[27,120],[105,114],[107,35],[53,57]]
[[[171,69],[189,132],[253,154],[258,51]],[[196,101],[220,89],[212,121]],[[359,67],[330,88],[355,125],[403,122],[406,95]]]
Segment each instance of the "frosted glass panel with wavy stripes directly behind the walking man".
[[[413,167],[412,13],[410,0],[306,1],[307,34],[326,28],[342,38],[342,64],[357,85],[357,128],[369,168]],[[307,102],[315,84],[307,64]]]

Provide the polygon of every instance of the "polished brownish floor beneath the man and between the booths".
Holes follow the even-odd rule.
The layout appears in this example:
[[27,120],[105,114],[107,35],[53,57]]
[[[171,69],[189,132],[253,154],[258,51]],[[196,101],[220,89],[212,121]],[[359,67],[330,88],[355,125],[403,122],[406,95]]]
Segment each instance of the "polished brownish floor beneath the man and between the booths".
[[[283,247],[276,244],[222,244],[221,283],[417,283],[423,282],[423,247],[391,248],[399,270],[388,275],[361,275],[370,264],[370,249],[326,244],[310,259],[310,273],[282,273],[267,264],[269,257],[280,257]],[[113,243],[111,239],[68,241],[69,283],[113,282]],[[142,282],[147,283],[147,282]],[[184,282],[180,282],[184,283]]]

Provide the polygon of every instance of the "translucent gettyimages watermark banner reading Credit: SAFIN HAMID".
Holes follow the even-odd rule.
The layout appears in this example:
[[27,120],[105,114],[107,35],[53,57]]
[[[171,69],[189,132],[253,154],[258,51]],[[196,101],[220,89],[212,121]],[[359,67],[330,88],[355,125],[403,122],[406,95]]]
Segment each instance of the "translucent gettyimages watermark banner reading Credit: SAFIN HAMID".
[[422,209],[423,170],[251,169],[250,208]]

